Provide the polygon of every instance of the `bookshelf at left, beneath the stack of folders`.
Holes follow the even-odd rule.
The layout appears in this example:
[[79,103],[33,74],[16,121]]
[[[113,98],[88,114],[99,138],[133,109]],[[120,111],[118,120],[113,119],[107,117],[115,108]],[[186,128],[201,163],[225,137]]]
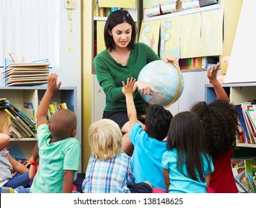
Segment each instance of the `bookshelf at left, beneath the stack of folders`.
[[[39,101],[42,100],[43,95],[47,89],[46,85],[31,86],[31,87],[1,87],[1,97],[6,97],[10,103],[13,103],[17,108],[22,110],[25,102],[33,103],[34,114],[39,106]],[[54,94],[52,102],[66,103],[68,109],[74,111],[77,114],[77,89],[76,87],[63,87]],[[79,126],[77,127],[79,128]],[[80,132],[80,129],[77,129]],[[77,139],[80,140],[80,133],[77,134]],[[7,146],[8,149],[14,145],[19,146],[22,150],[23,155],[27,159],[31,157],[33,146],[36,144],[36,138],[25,137],[25,138],[11,138],[10,144]],[[81,141],[80,141],[81,142]]]

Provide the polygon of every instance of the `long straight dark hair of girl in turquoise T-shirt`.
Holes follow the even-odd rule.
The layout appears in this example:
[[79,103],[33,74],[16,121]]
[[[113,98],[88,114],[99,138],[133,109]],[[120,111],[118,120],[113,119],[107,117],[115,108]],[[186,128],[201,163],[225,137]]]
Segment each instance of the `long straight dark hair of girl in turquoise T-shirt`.
[[[177,151],[177,169],[179,172],[194,181],[199,181],[199,178],[205,181],[203,156],[207,160],[209,169],[211,166],[205,131],[196,114],[184,111],[173,117],[167,135],[167,147]],[[183,169],[184,163],[188,175]],[[199,178],[196,177],[197,174]]]

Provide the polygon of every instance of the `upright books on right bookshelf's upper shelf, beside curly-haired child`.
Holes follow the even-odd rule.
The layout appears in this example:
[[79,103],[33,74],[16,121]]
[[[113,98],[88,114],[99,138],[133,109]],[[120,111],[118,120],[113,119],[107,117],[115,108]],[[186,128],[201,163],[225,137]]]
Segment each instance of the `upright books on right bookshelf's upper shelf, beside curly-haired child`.
[[240,138],[238,143],[256,143],[256,100],[235,105],[239,113]]

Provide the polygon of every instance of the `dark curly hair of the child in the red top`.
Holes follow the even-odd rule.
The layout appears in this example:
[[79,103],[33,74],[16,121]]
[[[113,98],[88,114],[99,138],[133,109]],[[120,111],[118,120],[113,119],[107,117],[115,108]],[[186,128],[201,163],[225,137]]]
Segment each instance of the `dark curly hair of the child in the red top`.
[[227,155],[236,145],[239,134],[238,113],[234,105],[224,100],[214,100],[208,105],[199,102],[192,106],[191,111],[202,120],[211,157]]

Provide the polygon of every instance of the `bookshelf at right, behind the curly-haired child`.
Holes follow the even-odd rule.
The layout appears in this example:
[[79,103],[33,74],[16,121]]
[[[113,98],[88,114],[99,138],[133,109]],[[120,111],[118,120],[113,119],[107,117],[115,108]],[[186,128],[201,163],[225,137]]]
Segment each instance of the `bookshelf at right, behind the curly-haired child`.
[[[225,92],[229,95],[230,103],[238,105],[256,99],[256,82],[223,84]],[[211,84],[205,85],[205,102],[211,103],[217,96]],[[237,147],[256,148],[253,143],[237,143]],[[256,150],[256,149],[255,149]]]

